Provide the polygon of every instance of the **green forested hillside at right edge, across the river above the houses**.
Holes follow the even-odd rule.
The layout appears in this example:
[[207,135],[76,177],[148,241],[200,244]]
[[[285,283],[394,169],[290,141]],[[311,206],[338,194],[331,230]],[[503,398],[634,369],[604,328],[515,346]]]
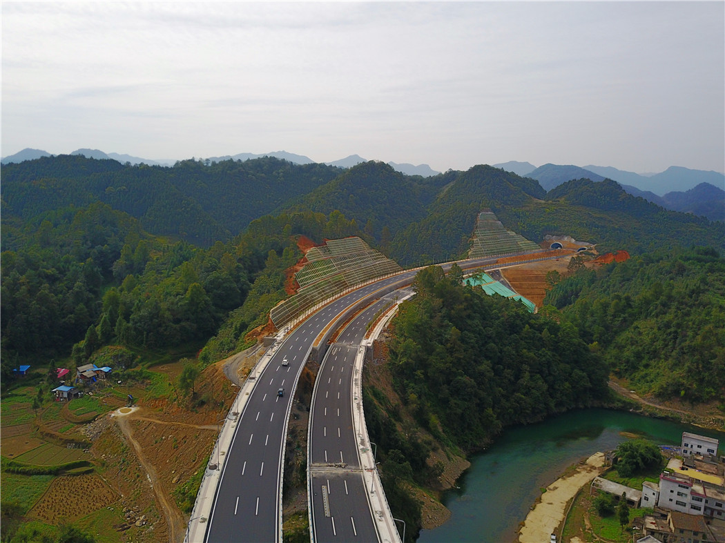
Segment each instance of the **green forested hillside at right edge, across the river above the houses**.
[[544,303],[640,392],[725,397],[725,258],[712,248],[655,251],[580,269]]

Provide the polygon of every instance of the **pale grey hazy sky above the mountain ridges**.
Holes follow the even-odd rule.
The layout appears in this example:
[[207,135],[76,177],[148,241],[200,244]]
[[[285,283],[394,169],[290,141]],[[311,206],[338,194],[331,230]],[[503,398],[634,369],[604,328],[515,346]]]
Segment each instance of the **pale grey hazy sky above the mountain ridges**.
[[725,169],[725,3],[1,4],[2,156]]

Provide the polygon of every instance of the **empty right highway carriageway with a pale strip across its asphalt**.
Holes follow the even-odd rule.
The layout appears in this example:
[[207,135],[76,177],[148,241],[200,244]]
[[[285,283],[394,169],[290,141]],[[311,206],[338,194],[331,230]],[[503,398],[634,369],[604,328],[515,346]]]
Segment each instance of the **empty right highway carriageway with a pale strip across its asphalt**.
[[308,432],[312,540],[380,541],[360,470],[353,427],[355,355],[366,326],[391,295],[358,313],[325,355],[315,381]]

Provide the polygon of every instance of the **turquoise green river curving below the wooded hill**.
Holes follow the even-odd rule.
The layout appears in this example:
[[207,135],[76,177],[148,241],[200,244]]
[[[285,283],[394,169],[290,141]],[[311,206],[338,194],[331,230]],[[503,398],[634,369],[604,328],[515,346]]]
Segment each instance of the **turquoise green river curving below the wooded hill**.
[[725,443],[722,432],[605,409],[573,411],[509,429],[489,450],[471,458],[471,468],[458,481],[460,489],[444,497],[450,520],[421,531],[418,542],[512,542],[542,489],[581,458],[616,448],[627,439],[621,432],[658,445],[679,445],[682,432],[695,432],[720,439],[720,452]]

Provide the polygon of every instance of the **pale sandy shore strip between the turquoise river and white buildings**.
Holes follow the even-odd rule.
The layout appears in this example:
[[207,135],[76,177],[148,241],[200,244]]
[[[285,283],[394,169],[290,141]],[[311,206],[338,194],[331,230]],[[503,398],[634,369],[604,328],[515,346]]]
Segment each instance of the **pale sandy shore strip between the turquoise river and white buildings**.
[[595,452],[587,458],[587,462],[576,467],[572,475],[557,479],[547,487],[542,494],[541,502],[534,505],[526,521],[518,532],[518,541],[521,543],[542,543],[549,541],[549,537],[562,523],[566,516],[566,504],[576,492],[585,484],[602,473],[604,468],[604,454]]

